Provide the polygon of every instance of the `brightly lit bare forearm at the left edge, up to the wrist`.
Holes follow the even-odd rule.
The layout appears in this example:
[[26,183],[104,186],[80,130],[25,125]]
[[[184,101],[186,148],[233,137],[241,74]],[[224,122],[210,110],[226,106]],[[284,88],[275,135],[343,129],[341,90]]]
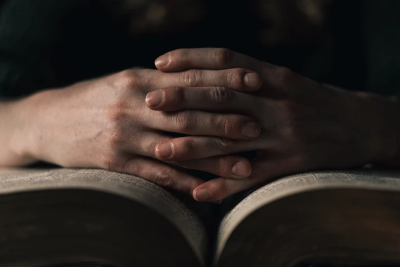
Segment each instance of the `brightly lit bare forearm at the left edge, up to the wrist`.
[[29,98],[0,101],[0,166],[21,166],[33,163],[29,155],[30,133]]

